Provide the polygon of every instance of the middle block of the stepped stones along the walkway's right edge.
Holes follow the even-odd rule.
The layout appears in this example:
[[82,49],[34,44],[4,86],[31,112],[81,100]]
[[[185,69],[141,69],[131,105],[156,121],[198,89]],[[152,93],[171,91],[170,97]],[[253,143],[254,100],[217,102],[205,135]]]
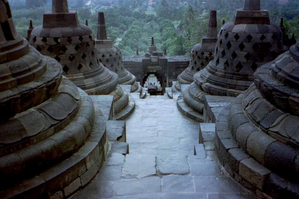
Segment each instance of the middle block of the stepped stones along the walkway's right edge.
[[199,124],[199,143],[204,144],[206,151],[215,150],[215,123]]

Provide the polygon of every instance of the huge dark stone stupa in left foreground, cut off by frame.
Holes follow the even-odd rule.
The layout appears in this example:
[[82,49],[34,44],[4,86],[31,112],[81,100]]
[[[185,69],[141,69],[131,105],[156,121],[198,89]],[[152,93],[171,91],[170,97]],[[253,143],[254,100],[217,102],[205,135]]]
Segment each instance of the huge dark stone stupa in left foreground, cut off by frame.
[[0,198],[67,197],[103,163],[105,119],[55,59],[16,33],[7,0],[0,10]]

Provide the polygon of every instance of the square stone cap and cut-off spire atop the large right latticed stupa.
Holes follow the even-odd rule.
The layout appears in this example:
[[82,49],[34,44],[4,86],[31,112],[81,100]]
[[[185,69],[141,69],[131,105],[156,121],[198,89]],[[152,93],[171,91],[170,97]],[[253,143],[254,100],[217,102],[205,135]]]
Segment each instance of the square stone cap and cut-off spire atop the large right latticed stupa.
[[244,8],[236,9],[234,24],[270,24],[268,10],[260,10],[260,0],[245,0]]

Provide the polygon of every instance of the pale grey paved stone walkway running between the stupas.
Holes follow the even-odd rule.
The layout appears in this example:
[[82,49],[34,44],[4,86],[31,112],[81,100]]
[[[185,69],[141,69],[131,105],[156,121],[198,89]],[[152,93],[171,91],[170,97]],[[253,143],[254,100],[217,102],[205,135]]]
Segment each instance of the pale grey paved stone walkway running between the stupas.
[[[164,96],[135,99],[126,119],[129,154],[109,153],[97,176],[72,199],[256,199],[219,169],[199,142],[199,123]],[[196,155],[194,155],[196,146]]]

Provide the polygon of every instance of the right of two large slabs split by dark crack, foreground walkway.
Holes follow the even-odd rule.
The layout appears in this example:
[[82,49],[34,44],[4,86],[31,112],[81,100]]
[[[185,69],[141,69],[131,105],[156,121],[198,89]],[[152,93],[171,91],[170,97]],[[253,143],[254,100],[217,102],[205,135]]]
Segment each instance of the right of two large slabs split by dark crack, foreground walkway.
[[156,156],[156,164],[160,174],[183,175],[190,172],[185,155]]

